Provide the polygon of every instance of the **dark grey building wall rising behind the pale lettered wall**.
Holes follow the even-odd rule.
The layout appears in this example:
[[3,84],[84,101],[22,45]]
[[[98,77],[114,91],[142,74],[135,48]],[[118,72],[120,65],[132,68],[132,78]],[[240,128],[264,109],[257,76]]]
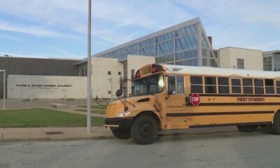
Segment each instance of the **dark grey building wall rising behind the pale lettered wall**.
[[[42,75],[42,76],[78,76],[79,59],[38,59],[23,57],[0,57],[0,69],[6,69],[8,75]],[[0,74],[0,81],[3,75]],[[3,83],[0,83],[0,97]]]

